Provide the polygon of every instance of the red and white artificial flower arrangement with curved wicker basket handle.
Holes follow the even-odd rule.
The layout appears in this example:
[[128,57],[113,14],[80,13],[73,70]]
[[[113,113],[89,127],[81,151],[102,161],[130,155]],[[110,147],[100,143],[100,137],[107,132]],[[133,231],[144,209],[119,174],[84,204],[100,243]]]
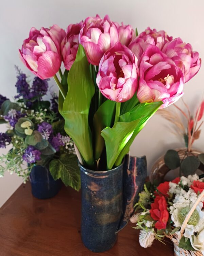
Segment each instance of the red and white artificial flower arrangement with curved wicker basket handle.
[[158,186],[148,182],[135,207],[131,222],[141,229],[142,247],[166,236],[174,242],[175,255],[204,255],[204,180],[197,174]]

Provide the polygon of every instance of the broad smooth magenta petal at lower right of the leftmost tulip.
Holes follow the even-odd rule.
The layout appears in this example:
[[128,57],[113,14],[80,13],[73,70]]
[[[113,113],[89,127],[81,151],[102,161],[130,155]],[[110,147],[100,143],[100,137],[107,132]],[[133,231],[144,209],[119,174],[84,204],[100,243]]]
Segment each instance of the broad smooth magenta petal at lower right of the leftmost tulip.
[[38,59],[38,76],[47,79],[54,76],[61,66],[60,56],[51,51],[43,53]]

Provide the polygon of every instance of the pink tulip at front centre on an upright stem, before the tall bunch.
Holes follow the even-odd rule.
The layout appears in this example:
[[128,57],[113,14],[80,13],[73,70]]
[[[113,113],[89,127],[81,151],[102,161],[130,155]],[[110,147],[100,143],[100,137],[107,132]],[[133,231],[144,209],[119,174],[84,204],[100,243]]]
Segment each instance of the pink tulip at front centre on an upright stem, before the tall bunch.
[[102,57],[96,83],[110,100],[124,102],[138,87],[138,60],[130,49],[117,42]]

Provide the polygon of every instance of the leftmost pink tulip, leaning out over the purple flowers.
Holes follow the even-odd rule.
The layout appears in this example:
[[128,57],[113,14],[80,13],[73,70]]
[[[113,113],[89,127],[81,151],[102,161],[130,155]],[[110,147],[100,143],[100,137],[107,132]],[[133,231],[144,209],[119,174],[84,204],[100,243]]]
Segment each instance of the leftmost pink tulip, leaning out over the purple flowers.
[[61,66],[61,42],[66,33],[57,25],[50,29],[31,28],[29,38],[23,41],[20,58],[23,64],[40,79],[55,75]]

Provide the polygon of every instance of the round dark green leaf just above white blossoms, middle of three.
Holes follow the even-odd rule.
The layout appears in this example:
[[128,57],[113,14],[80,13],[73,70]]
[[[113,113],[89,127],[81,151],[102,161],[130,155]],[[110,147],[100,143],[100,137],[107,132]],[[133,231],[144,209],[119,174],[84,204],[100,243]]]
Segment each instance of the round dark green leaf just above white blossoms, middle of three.
[[186,157],[181,163],[181,171],[185,176],[192,175],[200,166],[200,160],[195,156]]

